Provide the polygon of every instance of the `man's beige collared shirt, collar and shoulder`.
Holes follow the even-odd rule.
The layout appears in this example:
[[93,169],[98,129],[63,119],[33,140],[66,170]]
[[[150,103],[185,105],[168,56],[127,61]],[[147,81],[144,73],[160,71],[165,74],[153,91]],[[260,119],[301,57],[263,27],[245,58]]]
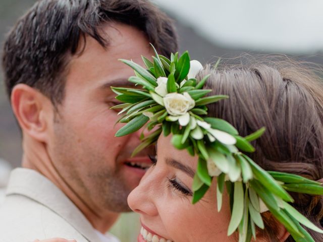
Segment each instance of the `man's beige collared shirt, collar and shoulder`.
[[14,169],[0,207],[0,241],[52,237],[101,242],[82,212],[49,179],[34,170]]

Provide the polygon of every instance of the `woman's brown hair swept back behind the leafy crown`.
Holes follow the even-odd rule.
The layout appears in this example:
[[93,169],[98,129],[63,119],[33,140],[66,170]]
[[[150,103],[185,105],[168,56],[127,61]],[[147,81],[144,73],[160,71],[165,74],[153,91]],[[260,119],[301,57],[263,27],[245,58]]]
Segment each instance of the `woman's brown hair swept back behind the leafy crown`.
[[[323,83],[308,68],[290,61],[209,67],[205,89],[229,99],[209,105],[209,116],[227,120],[246,136],[261,127],[266,132],[248,154],[265,170],[290,172],[320,180],[323,177]],[[293,206],[322,228],[323,198],[292,194]],[[263,214],[265,229],[259,234],[279,241],[273,217]],[[306,229],[306,228],[305,228]],[[276,231],[275,231],[276,230]],[[315,241],[323,234],[307,229]],[[286,241],[295,241],[292,236]]]

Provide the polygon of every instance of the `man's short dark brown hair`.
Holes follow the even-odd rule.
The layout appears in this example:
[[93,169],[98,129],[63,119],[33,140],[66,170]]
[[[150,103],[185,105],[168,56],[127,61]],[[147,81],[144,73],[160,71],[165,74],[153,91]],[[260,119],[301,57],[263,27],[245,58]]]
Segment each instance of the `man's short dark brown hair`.
[[166,56],[178,49],[172,20],[146,0],[40,0],[18,20],[4,44],[9,97],[15,85],[25,83],[55,106],[60,104],[68,56],[77,53],[80,38],[86,35],[108,46],[109,36],[103,36],[100,30],[109,22],[143,31]]

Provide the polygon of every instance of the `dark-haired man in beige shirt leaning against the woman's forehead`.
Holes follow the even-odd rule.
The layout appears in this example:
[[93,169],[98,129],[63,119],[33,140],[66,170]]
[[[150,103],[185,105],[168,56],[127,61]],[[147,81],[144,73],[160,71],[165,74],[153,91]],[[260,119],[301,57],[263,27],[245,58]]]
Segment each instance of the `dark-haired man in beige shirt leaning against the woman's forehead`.
[[140,131],[115,138],[118,104],[111,86],[131,68],[177,51],[171,20],[144,0],[42,0],[9,33],[3,67],[22,130],[22,167],[0,209],[0,241],[104,236],[149,166],[149,150],[131,158]]

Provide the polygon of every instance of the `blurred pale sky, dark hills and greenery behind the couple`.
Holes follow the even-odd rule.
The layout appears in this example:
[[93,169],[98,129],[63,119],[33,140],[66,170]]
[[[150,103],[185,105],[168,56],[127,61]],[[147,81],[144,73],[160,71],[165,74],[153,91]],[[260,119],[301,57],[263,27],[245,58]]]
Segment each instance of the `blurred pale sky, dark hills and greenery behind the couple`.
[[[0,0],[0,44],[34,0]],[[241,53],[282,53],[323,64],[321,0],[153,0],[175,21],[180,51],[203,64]],[[1,47],[2,49],[2,47]],[[1,53],[1,50],[0,50]],[[20,165],[21,137],[0,70],[0,205],[9,171]],[[135,214],[122,215],[112,232],[122,242],[136,241]]]

